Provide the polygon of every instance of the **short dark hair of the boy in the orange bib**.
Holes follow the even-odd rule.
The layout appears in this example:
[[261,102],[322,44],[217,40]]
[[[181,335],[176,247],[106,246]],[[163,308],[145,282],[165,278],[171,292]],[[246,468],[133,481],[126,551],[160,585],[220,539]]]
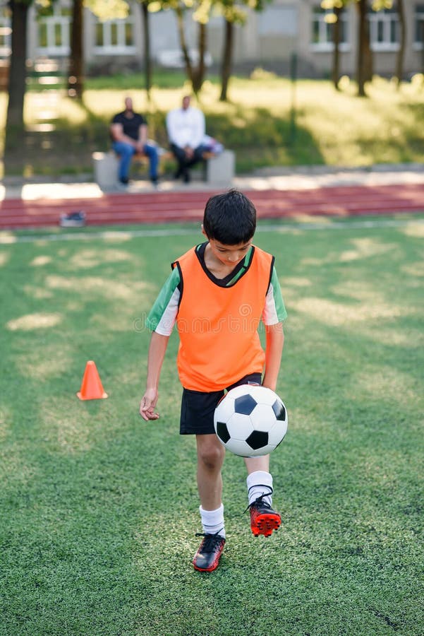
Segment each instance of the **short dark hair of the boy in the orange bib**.
[[203,229],[208,239],[223,245],[247,243],[255,234],[256,209],[238,190],[215,194],[207,201]]

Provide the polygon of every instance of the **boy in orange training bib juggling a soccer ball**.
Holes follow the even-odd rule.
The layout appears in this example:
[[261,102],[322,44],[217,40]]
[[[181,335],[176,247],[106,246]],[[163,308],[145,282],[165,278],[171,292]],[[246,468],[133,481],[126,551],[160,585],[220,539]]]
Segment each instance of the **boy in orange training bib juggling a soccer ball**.
[[[203,532],[193,565],[212,572],[225,543],[221,469],[224,446],[214,431],[214,409],[226,389],[263,384],[275,391],[284,344],[284,302],[274,257],[253,246],[256,211],[241,192],[207,201],[202,233],[207,241],[172,264],[172,273],[147,318],[152,338],[140,415],[156,420],[159,376],[176,323],[178,375],[183,385],[181,435],[195,435]],[[266,347],[258,335],[265,324]],[[262,371],[265,372],[262,379]],[[281,524],[272,509],[269,455],[245,459],[250,527],[269,536]]]

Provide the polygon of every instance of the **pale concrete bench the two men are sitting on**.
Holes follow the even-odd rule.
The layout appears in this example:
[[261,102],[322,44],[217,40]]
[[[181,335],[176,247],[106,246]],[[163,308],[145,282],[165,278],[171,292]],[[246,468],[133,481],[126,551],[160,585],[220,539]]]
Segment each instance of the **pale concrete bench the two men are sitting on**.
[[[169,160],[173,155],[163,148],[159,151],[159,161]],[[219,155],[205,153],[205,181],[209,184],[226,186],[234,177],[236,155],[234,151],[224,150]],[[133,162],[148,165],[145,155],[133,155]],[[102,190],[114,189],[118,184],[119,157],[114,151],[92,153],[95,182]]]

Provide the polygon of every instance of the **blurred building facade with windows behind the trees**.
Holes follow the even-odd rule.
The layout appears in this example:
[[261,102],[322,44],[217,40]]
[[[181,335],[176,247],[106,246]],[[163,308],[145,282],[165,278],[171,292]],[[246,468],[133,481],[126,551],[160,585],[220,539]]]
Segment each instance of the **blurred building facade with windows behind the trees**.
[[[424,1],[406,0],[405,76],[424,70]],[[298,74],[306,77],[329,76],[332,67],[332,25],[329,11],[320,0],[274,0],[264,11],[249,11],[246,24],[235,28],[234,67],[250,70],[257,66],[281,75],[289,72],[296,54]],[[399,19],[396,0],[392,9],[368,14],[375,73],[394,72],[399,49]],[[341,16],[341,73],[353,75],[357,57],[358,15],[351,4]],[[38,18],[35,6],[28,20],[28,59],[54,59],[66,68],[70,52],[71,2],[58,0],[52,16]],[[162,63],[178,64],[179,40],[173,11],[150,14],[151,54]],[[186,35],[195,49],[197,25],[188,13]],[[214,64],[222,57],[224,20],[212,17],[207,25],[208,52]],[[0,9],[0,59],[10,54],[11,26],[7,5]],[[130,4],[126,18],[102,22],[87,8],[84,13],[84,57],[87,71],[104,72],[142,69],[143,23],[140,5]]]

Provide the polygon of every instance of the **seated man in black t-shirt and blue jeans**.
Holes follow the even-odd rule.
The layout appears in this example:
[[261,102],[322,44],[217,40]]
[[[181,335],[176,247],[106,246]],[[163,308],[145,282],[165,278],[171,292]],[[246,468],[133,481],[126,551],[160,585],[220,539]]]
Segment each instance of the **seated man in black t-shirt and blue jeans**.
[[121,184],[128,184],[131,159],[135,153],[143,153],[149,158],[150,180],[157,185],[159,156],[156,146],[147,143],[147,122],[143,115],[133,110],[133,100],[126,98],[125,110],[114,116],[111,122],[112,148],[120,157],[118,178]]

